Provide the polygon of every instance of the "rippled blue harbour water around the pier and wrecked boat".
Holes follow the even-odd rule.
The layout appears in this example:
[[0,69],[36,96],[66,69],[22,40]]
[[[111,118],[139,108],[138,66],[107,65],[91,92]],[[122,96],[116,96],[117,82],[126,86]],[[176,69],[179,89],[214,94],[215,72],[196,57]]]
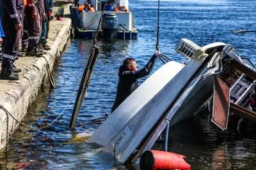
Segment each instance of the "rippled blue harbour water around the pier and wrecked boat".
[[[84,142],[109,113],[115,99],[118,67],[126,57],[134,57],[139,67],[152,56],[156,46],[157,1],[130,1],[138,39],[133,41],[98,41],[99,59],[93,72],[76,130],[68,125],[76,97],[57,122],[41,131],[24,127],[12,136],[8,159],[0,155],[1,169],[139,169],[116,165],[113,157]],[[186,61],[175,52],[181,38],[200,46],[222,41],[232,44],[244,57],[256,61],[255,33],[232,34],[234,30],[256,29],[255,1],[161,1],[160,50],[173,60]],[[70,40],[61,62],[81,77],[92,41]],[[162,66],[158,60],[154,71]],[[65,108],[76,89],[77,80],[61,68],[54,71],[56,89],[44,87],[29,108],[24,124],[40,127],[52,122]],[[143,81],[143,80],[141,80]],[[140,81],[140,82],[141,82]],[[75,94],[76,96],[76,94]],[[256,169],[255,134],[222,132],[209,119],[197,115],[170,129],[168,150],[186,155],[191,169]],[[164,142],[154,148],[163,150]]]

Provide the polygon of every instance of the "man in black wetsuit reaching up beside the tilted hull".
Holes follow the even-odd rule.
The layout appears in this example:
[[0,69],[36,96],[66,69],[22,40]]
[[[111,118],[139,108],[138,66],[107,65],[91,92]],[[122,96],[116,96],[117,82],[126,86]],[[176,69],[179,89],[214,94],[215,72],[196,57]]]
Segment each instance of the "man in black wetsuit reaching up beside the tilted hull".
[[138,79],[147,76],[155,66],[157,56],[153,55],[143,69],[138,70],[135,59],[127,58],[119,67],[119,81],[117,85],[116,99],[111,113],[139,87]]

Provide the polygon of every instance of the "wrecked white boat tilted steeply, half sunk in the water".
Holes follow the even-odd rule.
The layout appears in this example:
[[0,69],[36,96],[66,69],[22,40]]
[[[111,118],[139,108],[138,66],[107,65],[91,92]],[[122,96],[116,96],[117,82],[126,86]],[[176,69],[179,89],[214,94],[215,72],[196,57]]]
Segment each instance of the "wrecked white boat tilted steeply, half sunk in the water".
[[212,43],[201,48],[182,39],[176,50],[189,59],[188,64],[164,64],[120,104],[88,143],[104,146],[103,151],[118,162],[138,162],[167,125],[193,116],[211,98],[211,120],[223,130],[230,110],[253,117],[243,106],[255,86],[255,68],[246,64],[232,45]]

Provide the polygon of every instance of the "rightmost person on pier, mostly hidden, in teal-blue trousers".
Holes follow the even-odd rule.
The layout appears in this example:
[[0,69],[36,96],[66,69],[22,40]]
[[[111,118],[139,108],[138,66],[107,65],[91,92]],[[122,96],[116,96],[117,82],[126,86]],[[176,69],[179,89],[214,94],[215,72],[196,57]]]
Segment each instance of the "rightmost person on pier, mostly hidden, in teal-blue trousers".
[[53,10],[53,0],[44,0],[44,9],[45,9],[45,14],[47,17],[45,20],[43,20],[43,27],[42,27],[42,36],[40,39],[40,44],[42,45],[42,48],[44,50],[51,50],[51,47],[48,46],[46,43],[46,39],[48,37],[48,32],[49,32],[49,22],[51,20],[51,13]]

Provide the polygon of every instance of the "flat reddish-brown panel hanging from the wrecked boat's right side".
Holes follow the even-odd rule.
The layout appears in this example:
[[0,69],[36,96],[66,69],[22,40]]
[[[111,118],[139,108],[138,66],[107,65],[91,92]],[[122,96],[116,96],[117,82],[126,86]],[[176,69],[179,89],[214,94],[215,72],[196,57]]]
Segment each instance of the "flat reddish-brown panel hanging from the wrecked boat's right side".
[[226,83],[215,76],[211,120],[223,131],[227,130],[229,107],[230,90]]

